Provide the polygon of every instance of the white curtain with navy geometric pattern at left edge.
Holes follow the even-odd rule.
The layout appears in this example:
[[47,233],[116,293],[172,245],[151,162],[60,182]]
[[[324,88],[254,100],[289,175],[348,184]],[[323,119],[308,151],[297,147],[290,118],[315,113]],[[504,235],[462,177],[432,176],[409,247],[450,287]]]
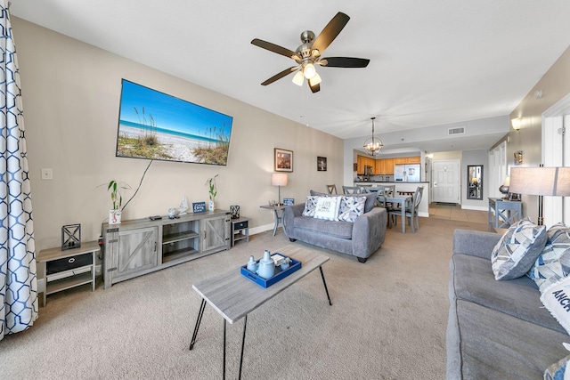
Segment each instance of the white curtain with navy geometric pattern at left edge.
[[0,339],[37,319],[34,224],[20,73],[7,0],[0,0]]

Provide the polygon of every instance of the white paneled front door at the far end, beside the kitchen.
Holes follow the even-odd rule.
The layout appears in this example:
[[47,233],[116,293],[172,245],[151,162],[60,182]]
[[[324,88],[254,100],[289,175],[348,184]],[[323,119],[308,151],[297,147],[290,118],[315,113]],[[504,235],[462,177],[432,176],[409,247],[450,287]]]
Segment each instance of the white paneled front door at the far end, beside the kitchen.
[[432,163],[433,202],[460,203],[460,161]]

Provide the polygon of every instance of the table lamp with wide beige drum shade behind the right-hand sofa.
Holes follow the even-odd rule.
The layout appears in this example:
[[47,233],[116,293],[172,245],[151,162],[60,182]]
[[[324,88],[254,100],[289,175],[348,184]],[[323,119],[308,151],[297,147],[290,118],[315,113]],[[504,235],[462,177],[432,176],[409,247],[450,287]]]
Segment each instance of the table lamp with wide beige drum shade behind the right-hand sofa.
[[512,167],[509,191],[538,195],[538,225],[542,226],[542,197],[570,197],[570,167]]

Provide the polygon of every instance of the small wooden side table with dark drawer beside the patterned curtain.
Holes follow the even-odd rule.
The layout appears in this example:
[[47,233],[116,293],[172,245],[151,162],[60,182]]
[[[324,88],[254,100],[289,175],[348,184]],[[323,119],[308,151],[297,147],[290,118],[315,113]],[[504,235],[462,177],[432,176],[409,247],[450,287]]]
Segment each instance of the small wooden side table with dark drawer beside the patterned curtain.
[[88,241],[81,247],[61,250],[61,247],[42,249],[37,255],[38,277],[45,279],[44,296],[40,298],[42,306],[47,303],[47,295],[61,290],[79,287],[91,283],[95,291],[95,253],[99,252],[99,243]]

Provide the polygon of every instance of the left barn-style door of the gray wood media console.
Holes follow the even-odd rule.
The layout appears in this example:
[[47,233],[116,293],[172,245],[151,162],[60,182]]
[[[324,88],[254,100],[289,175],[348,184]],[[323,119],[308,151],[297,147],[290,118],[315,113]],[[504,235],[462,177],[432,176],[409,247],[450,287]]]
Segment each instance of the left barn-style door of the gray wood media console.
[[156,227],[120,231],[118,234],[117,276],[153,268],[158,264]]

